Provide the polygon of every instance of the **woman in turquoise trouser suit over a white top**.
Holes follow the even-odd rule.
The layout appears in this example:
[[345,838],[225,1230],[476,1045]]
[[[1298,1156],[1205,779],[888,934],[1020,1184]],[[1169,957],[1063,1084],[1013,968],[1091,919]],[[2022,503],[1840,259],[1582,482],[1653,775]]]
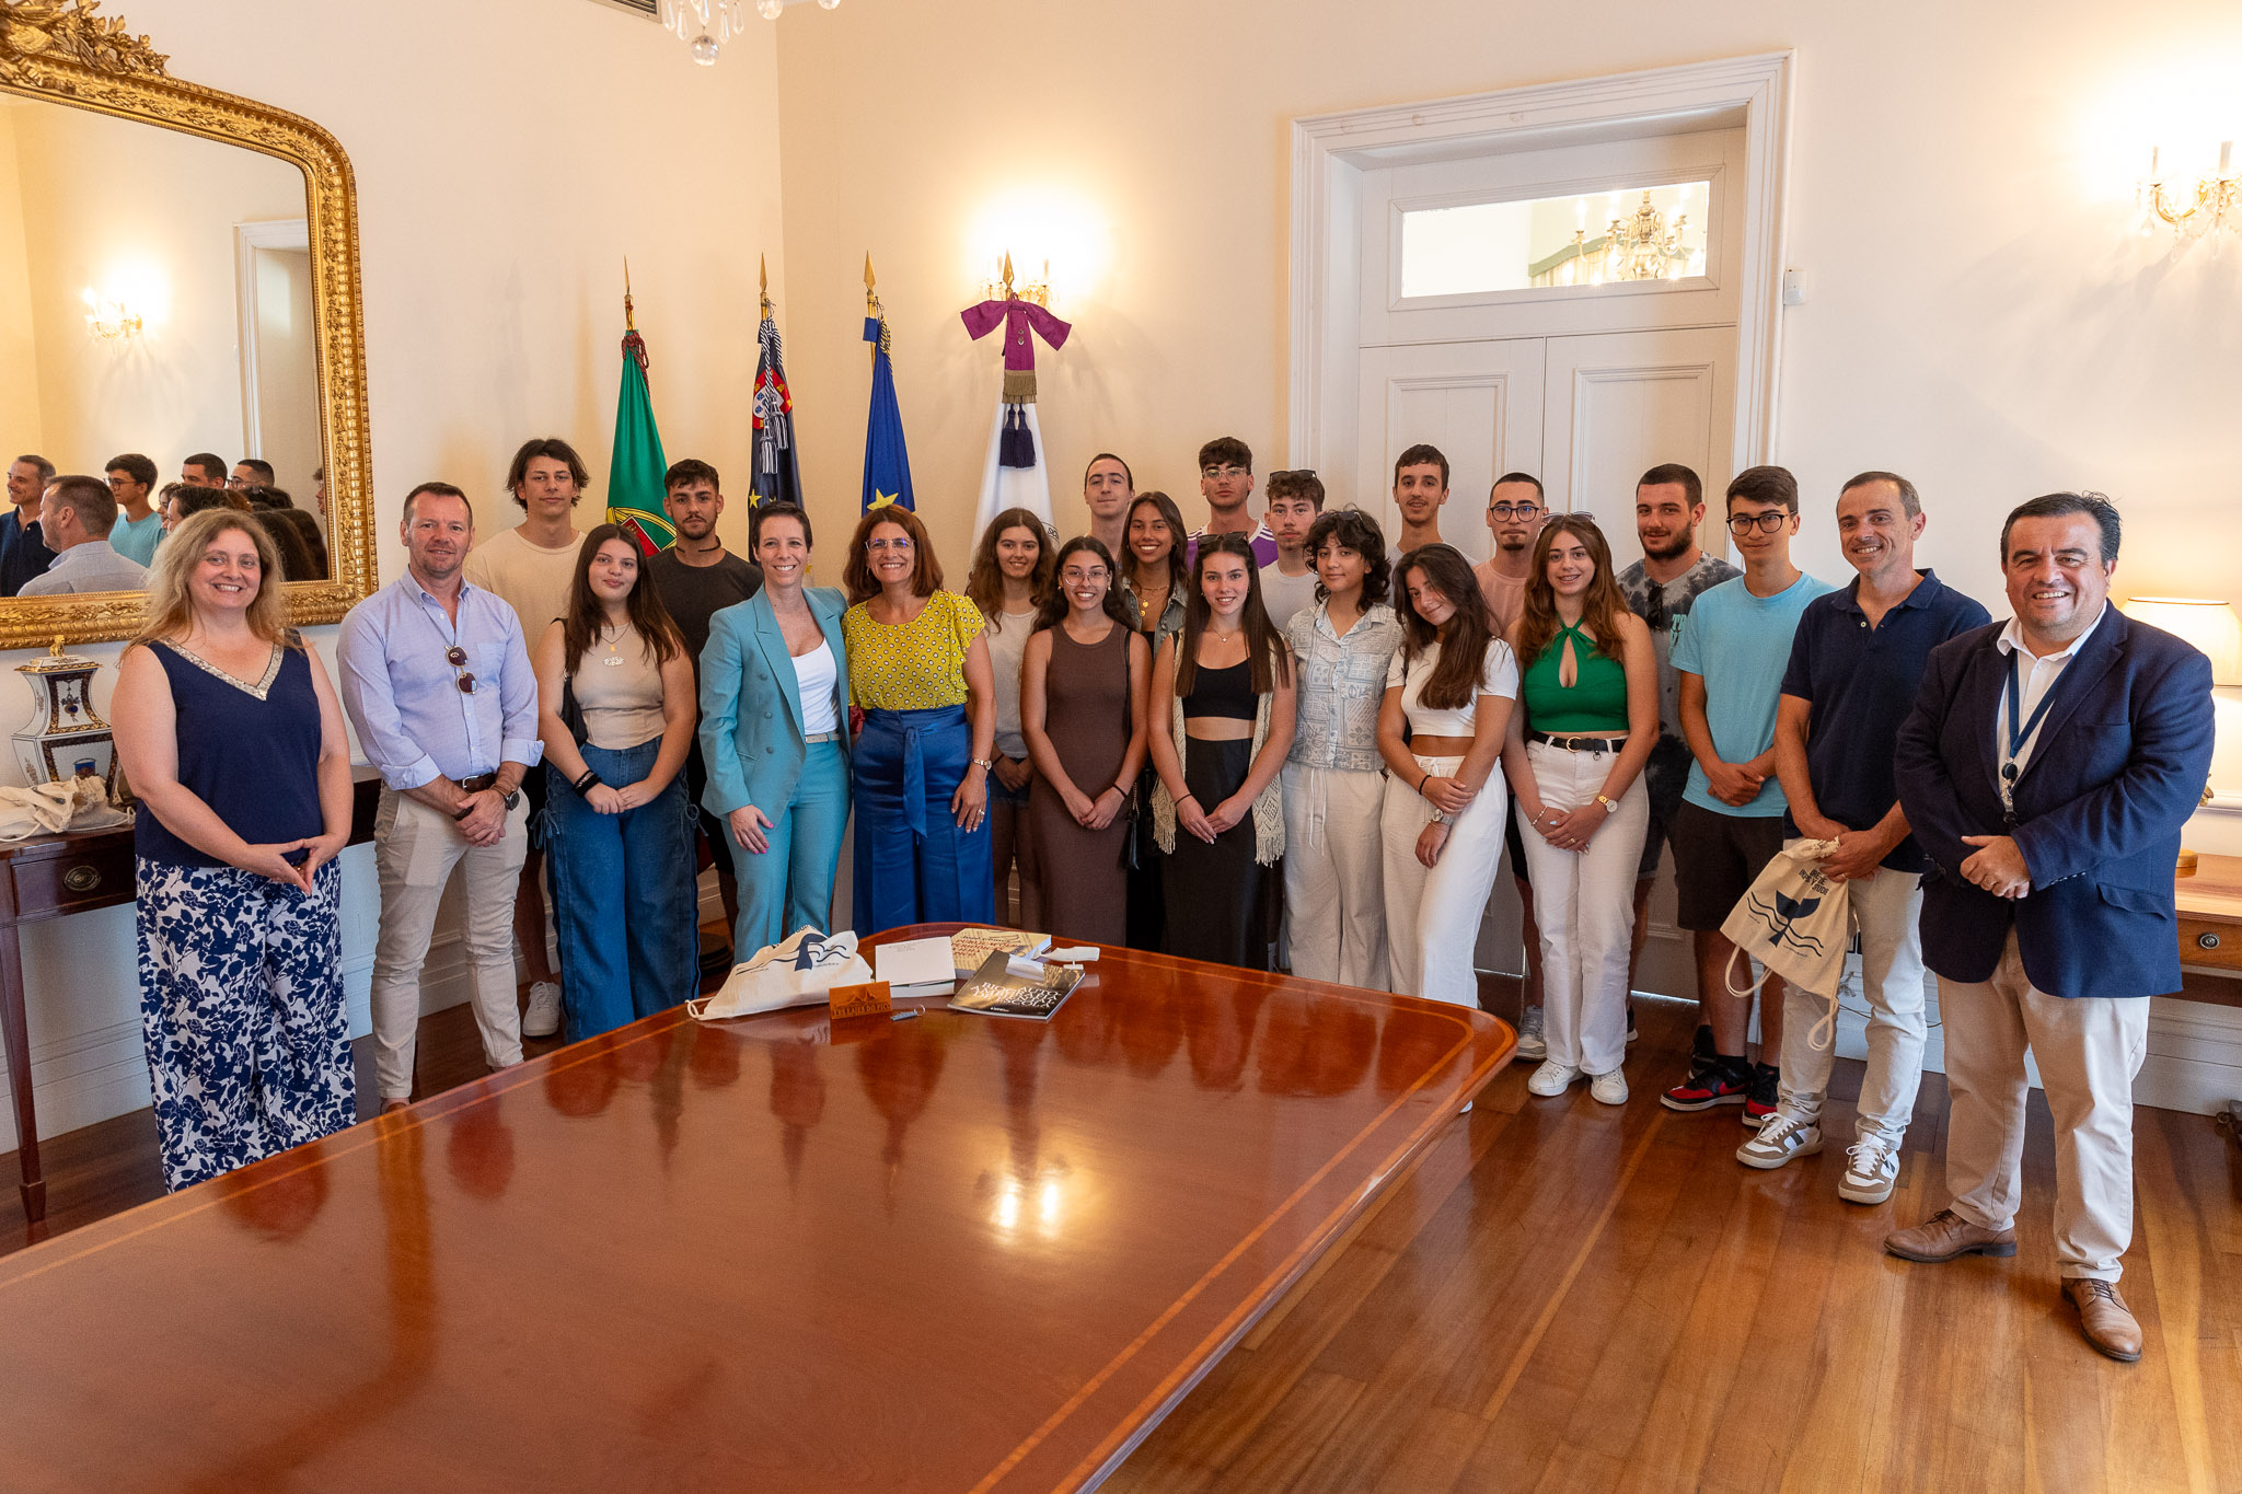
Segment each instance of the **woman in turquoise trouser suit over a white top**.
[[756,513],[762,589],[708,620],[702,654],[702,806],[740,847],[733,950],[747,959],[805,923],[832,930],[847,829],[847,600],[805,587],[809,515]]

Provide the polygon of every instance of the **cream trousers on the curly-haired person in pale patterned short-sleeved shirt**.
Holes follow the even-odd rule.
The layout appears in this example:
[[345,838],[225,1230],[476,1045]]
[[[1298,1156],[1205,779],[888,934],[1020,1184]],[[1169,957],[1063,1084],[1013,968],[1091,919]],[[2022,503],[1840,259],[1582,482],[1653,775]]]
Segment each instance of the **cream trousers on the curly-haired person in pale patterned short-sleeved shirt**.
[[1383,773],[1285,764],[1291,972],[1386,990]]

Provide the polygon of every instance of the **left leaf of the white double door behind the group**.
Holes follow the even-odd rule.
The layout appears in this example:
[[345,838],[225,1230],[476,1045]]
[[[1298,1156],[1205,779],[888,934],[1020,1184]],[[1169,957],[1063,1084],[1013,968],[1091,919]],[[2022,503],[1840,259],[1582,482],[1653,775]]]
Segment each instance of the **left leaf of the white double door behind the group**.
[[1542,461],[1540,338],[1365,347],[1352,502],[1374,513],[1388,544],[1401,535],[1392,502],[1395,459],[1430,441],[1448,457],[1448,506],[1439,538],[1489,555],[1486,488]]

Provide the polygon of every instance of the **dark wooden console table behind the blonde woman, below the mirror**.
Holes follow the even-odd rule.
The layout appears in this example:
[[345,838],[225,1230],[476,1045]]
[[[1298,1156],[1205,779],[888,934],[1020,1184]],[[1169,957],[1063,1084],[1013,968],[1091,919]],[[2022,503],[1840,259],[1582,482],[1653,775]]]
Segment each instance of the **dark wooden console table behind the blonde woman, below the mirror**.
[[[374,838],[381,775],[372,768],[354,768],[352,782],[356,797],[350,813],[350,844],[359,844]],[[22,1021],[22,943],[16,930],[25,923],[67,918],[130,900],[130,824],[0,842],[0,1044],[7,1046],[7,1082],[16,1098],[22,1214],[31,1223],[47,1216],[47,1178],[38,1167],[31,1039]]]

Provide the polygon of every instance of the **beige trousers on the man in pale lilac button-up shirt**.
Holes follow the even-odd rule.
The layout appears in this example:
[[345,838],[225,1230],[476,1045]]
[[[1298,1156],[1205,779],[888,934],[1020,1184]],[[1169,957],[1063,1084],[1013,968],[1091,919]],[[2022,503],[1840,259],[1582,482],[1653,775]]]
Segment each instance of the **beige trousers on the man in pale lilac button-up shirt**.
[[466,894],[464,943],[473,974],[475,1028],[491,1068],[522,1062],[522,1015],[513,999],[513,891],[529,856],[527,797],[493,847],[471,847],[460,827],[388,786],[374,818],[381,932],[374,936],[374,1082],[383,1100],[413,1098],[419,1037],[419,972],[453,867]]

